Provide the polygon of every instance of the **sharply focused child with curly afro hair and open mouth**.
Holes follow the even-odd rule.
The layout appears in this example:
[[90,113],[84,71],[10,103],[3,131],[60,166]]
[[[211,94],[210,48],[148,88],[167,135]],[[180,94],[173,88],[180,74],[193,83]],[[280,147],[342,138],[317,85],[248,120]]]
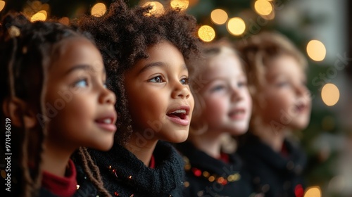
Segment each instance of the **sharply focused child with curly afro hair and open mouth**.
[[150,11],[116,1],[100,18],[77,21],[94,35],[118,97],[117,135],[127,142],[89,152],[115,196],[182,196],[184,164],[166,141],[180,143],[189,132],[194,99],[186,62],[199,51],[196,20],[175,10]]

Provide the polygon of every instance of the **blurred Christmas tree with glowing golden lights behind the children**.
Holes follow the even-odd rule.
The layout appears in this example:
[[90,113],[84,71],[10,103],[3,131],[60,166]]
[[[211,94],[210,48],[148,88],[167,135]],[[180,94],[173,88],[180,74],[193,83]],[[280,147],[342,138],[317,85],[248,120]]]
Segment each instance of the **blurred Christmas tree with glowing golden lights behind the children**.
[[[146,3],[146,1],[137,0],[127,2],[130,6]],[[170,1],[158,2],[164,6],[170,4]],[[82,14],[90,14],[91,8],[96,3],[103,3],[108,7],[111,1],[6,1],[1,14],[14,9],[23,11],[31,17],[34,13],[45,10],[48,17],[73,19]],[[187,7],[187,13],[194,15],[199,25],[208,25],[206,32],[203,32],[205,37],[203,39],[208,41],[228,37],[234,41],[245,42],[253,34],[274,30],[286,35],[306,54],[306,46],[313,39],[310,27],[329,23],[329,15],[311,15],[307,10],[291,9],[291,4],[294,3],[297,4],[289,0],[174,0],[173,2],[184,8]],[[322,87],[327,82],[333,82],[333,78],[329,78],[329,75],[334,75],[330,71],[334,69],[336,71],[336,67],[325,61],[312,61],[308,56],[307,59],[309,63],[307,85],[312,94],[313,110],[310,125],[306,130],[298,132],[297,136],[310,158],[306,174],[308,184],[320,186],[322,196],[351,196],[351,193],[342,195],[332,192],[339,185],[334,181],[338,174],[337,161],[341,158],[339,144],[346,143],[344,136],[351,134],[348,133],[350,132],[348,129],[346,131],[346,128],[339,126],[341,122],[336,112],[322,102]],[[351,66],[347,68],[352,70]],[[340,77],[341,72],[337,75]],[[334,184],[337,186],[334,187]]]

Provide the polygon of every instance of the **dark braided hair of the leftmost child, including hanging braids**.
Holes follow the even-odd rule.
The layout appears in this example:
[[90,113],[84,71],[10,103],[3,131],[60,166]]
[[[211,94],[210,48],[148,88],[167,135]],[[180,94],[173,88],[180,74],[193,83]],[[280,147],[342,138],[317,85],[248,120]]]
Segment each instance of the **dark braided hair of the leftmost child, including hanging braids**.
[[[1,103],[4,103],[7,98],[19,98],[33,106],[37,110],[36,113],[45,114],[46,70],[60,58],[55,51],[63,46],[61,42],[71,37],[84,37],[92,41],[89,34],[60,23],[42,21],[30,23],[20,13],[5,15],[0,29],[1,84],[5,87],[4,94],[1,94]],[[1,110],[1,116],[6,116],[4,109]],[[24,125],[24,115],[20,118]],[[11,151],[16,152],[13,155],[18,155],[19,173],[23,174],[20,177],[20,186],[23,186],[20,190],[21,196],[37,196],[42,182],[41,164],[45,148],[46,125],[37,124],[33,129],[13,127],[12,131],[14,129],[17,133],[12,135],[15,136],[13,142],[18,149],[14,147]],[[32,141],[33,136],[37,137],[35,142]],[[84,148],[79,150],[84,171],[101,194],[110,196],[103,188],[99,170],[92,159],[86,156],[87,151],[84,150]],[[33,161],[34,166],[29,169],[28,165]],[[93,173],[90,169],[97,171]]]

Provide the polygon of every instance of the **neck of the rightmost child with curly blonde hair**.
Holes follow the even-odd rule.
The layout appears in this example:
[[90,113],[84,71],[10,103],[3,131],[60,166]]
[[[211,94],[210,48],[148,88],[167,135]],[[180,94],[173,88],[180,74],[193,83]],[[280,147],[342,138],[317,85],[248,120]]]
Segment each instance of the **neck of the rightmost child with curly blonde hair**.
[[284,138],[288,130],[277,129],[273,131],[271,125],[262,125],[254,128],[253,132],[259,137],[260,141],[279,153],[282,150],[282,144],[284,144]]

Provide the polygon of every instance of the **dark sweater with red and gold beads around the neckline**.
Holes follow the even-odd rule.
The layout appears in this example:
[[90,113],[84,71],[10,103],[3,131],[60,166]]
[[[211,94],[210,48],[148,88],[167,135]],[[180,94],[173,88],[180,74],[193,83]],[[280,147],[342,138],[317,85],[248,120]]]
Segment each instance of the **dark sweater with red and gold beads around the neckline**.
[[241,159],[236,153],[228,155],[229,163],[225,163],[198,150],[189,142],[179,144],[177,148],[189,160],[185,165],[187,187],[184,196],[248,197],[254,194],[249,175],[243,171]]

